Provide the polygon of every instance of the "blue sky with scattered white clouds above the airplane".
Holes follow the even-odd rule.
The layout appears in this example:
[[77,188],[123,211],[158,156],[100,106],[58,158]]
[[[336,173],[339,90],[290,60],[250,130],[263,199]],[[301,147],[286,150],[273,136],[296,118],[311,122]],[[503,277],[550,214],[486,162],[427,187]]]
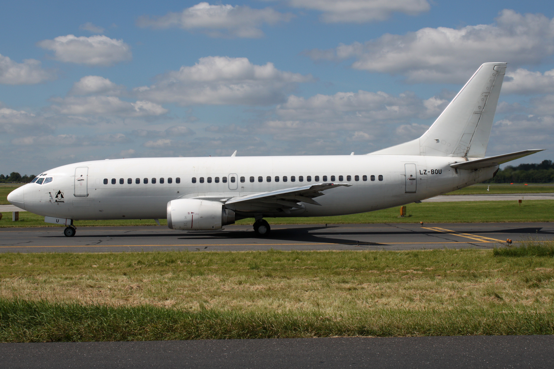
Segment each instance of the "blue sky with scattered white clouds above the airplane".
[[487,154],[552,149],[553,17],[546,1],[4,4],[0,173],[368,153],[420,136],[486,61],[510,63]]

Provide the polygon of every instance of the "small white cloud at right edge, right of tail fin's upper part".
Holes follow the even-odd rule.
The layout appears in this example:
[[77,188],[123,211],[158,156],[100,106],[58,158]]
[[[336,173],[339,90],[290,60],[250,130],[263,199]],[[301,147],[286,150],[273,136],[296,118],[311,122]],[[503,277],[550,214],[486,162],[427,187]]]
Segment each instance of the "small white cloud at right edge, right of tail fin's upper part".
[[518,68],[515,71],[506,72],[503,93],[552,93],[554,92],[554,69],[541,72],[531,72],[527,69]]

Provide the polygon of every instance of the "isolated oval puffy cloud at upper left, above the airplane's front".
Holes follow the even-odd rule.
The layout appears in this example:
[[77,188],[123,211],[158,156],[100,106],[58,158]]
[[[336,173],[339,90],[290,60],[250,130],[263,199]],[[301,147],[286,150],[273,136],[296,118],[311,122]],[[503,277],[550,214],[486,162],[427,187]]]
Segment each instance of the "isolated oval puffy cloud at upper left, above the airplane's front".
[[75,37],[59,36],[53,40],[43,40],[38,45],[54,51],[54,59],[65,63],[88,66],[110,66],[132,59],[131,48],[123,40],[106,36]]

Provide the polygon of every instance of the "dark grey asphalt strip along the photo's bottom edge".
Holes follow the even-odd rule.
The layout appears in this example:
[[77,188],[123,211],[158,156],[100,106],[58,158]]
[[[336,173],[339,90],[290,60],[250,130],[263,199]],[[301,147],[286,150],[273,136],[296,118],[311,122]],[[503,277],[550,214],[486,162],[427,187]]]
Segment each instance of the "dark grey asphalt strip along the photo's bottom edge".
[[554,336],[348,337],[0,344],[0,367],[552,368]]

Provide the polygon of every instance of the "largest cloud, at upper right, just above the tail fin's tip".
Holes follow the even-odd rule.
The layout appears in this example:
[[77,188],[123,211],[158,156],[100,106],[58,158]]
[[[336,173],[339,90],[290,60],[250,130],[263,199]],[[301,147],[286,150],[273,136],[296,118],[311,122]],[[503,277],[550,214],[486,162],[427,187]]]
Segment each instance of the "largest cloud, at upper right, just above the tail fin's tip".
[[496,24],[422,28],[366,43],[306,51],[314,60],[355,58],[354,69],[404,75],[406,81],[465,82],[481,63],[536,64],[554,53],[554,20],[504,9]]

